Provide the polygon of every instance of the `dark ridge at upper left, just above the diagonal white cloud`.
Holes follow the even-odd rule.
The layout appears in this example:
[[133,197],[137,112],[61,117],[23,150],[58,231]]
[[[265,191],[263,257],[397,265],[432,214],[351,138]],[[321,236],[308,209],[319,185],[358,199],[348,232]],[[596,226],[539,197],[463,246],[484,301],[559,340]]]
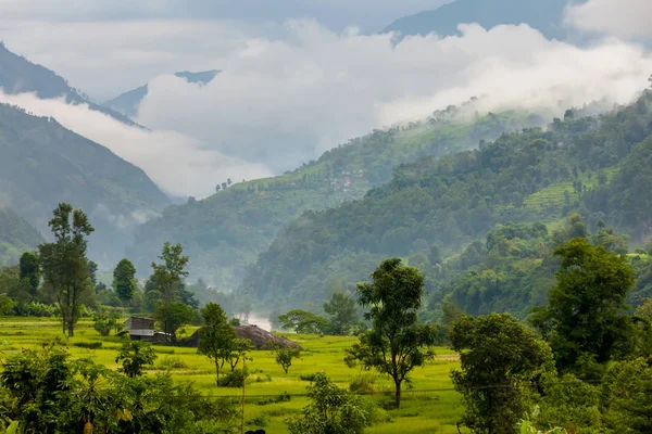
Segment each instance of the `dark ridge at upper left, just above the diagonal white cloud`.
[[0,88],[10,94],[33,92],[41,99],[65,98],[68,104],[88,104],[90,110],[109,115],[123,124],[138,126],[127,116],[93,103],[88,97],[71,88],[66,80],[54,72],[9,51],[2,42],[0,42]]

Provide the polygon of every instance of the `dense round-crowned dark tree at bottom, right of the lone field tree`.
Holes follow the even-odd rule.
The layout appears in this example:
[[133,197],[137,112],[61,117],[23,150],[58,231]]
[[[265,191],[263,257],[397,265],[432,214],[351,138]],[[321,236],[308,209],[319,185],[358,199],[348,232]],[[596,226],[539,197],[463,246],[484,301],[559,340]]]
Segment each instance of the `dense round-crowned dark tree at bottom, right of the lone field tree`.
[[466,405],[463,423],[478,434],[514,433],[528,390],[552,363],[548,344],[506,314],[463,317],[449,340],[460,353],[451,378]]

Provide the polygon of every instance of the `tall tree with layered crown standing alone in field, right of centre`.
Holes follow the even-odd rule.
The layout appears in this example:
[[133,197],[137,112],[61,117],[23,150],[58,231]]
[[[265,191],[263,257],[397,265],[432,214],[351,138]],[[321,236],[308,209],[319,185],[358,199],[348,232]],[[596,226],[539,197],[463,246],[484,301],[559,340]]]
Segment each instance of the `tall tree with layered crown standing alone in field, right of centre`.
[[424,277],[412,267],[392,258],[380,263],[372,273],[371,283],[359,283],[359,303],[371,307],[365,319],[371,331],[360,336],[360,344],[347,349],[346,361],[353,366],[361,361],[367,369],[375,368],[394,382],[394,404],[401,406],[401,385],[416,367],[431,355],[424,347],[434,345],[437,330],[419,323],[417,310],[422,306]]

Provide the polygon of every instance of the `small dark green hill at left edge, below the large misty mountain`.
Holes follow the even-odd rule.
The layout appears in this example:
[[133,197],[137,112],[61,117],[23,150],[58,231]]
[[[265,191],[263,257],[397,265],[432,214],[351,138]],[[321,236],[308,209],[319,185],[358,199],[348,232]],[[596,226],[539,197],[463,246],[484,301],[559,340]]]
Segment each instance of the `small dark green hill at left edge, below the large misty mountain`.
[[8,206],[0,206],[0,267],[16,264],[24,252],[34,251],[45,239]]

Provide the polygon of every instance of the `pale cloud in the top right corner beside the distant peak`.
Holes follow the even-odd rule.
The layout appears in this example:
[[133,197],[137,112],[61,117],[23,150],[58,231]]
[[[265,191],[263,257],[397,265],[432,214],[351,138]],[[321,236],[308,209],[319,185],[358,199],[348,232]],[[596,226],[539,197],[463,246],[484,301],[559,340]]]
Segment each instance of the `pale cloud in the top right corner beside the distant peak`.
[[588,0],[569,5],[565,22],[588,33],[652,38],[652,4],[650,0]]

